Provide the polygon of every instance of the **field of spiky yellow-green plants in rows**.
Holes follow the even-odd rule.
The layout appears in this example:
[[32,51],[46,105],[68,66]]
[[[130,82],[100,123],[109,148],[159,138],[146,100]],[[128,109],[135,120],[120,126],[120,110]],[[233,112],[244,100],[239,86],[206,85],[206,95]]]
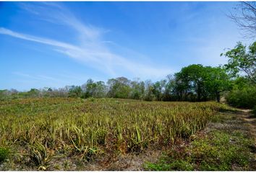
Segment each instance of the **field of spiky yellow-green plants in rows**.
[[[53,170],[63,159],[90,163],[189,140],[226,105],[129,99],[35,98],[0,102],[0,162]],[[62,160],[61,160],[62,159]],[[62,161],[62,162],[61,162]]]

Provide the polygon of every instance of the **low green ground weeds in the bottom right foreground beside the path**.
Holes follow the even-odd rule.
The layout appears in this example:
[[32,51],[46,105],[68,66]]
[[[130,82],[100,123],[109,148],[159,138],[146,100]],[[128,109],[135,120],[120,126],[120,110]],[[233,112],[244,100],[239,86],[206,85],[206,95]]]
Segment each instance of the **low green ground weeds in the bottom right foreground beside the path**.
[[247,170],[252,159],[249,148],[252,145],[253,141],[240,130],[213,130],[207,136],[192,139],[189,145],[172,147],[156,163],[145,164],[145,169],[228,171],[238,167],[238,170]]

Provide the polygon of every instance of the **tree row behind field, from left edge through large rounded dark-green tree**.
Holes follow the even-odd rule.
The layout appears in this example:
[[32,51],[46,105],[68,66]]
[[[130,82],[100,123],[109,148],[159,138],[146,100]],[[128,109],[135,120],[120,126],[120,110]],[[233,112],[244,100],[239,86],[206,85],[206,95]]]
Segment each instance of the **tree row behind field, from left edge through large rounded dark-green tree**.
[[182,71],[168,75],[161,81],[131,81],[125,77],[103,81],[89,79],[82,86],[65,86],[63,89],[31,89],[17,92],[14,89],[1,90],[0,100],[27,97],[80,97],[80,98],[122,98],[146,101],[220,101],[221,92],[230,88],[229,75],[221,67],[194,64]]

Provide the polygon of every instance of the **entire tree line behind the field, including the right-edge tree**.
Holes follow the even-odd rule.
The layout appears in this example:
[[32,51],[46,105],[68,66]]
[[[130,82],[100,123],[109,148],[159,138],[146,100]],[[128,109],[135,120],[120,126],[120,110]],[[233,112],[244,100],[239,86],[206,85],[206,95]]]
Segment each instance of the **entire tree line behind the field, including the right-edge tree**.
[[[146,101],[202,102],[216,100],[220,102],[221,95],[229,91],[227,98],[234,102],[237,96],[234,98],[231,95],[239,94],[237,90],[246,87],[255,89],[255,55],[256,42],[249,45],[248,48],[242,43],[238,43],[235,48],[221,54],[221,56],[229,58],[228,63],[223,66],[211,67],[192,64],[160,81],[129,80],[125,77],[118,77],[108,79],[105,83],[88,79],[81,86],[65,86],[59,89],[30,89],[29,92],[18,92],[15,89],[1,90],[0,98],[81,97],[86,99],[110,97]],[[253,91],[251,91],[252,94]],[[252,97],[254,96],[252,95]],[[232,101],[232,99],[234,100]]]

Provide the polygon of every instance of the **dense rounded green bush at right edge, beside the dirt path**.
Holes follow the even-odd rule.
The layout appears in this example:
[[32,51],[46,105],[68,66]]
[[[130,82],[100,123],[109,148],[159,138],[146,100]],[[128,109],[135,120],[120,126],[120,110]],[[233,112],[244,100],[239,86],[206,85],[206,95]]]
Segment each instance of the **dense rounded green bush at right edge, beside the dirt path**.
[[226,100],[235,107],[253,108],[256,106],[256,86],[233,89],[227,95]]

